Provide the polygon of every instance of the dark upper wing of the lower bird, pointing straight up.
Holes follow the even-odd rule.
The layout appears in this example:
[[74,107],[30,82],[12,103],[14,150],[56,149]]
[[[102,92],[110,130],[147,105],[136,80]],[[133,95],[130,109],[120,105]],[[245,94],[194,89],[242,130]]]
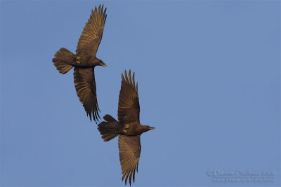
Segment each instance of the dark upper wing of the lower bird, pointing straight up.
[[135,84],[135,73],[129,78],[125,70],[125,78],[122,74],[122,85],[119,93],[118,120],[121,124],[140,121],[140,104],[138,102],[138,83]]

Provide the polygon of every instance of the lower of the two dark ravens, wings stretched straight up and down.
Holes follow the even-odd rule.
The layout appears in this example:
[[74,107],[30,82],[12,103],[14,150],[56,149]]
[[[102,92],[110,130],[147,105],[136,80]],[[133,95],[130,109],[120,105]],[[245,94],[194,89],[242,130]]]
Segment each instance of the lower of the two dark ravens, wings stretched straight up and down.
[[125,176],[125,184],[129,178],[135,181],[135,172],[138,172],[138,160],[141,155],[141,134],[154,129],[140,123],[140,104],[138,102],[138,83],[135,84],[135,73],[133,80],[131,70],[129,78],[125,71],[122,74],[122,85],[119,93],[118,121],[110,115],[103,117],[105,121],[98,124],[98,130],[103,141],[110,141],[119,135],[119,156],[122,167],[122,181]]

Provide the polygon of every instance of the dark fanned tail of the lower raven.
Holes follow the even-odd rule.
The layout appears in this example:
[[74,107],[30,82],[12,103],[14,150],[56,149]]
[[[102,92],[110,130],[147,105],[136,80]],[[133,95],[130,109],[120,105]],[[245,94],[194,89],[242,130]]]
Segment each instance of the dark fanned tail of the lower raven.
[[114,139],[119,135],[121,125],[119,125],[118,121],[115,120],[115,118],[108,114],[103,116],[103,118],[106,121],[98,124],[98,130],[100,131],[103,141],[110,141],[111,139]]

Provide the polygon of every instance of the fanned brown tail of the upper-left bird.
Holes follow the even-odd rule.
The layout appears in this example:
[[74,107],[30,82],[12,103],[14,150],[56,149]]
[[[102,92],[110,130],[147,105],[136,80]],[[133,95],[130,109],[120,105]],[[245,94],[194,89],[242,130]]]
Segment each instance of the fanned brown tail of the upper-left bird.
[[55,58],[53,58],[53,64],[60,71],[60,74],[65,74],[67,71],[72,69],[72,63],[74,54],[71,53],[66,48],[60,48],[57,53],[55,53]]

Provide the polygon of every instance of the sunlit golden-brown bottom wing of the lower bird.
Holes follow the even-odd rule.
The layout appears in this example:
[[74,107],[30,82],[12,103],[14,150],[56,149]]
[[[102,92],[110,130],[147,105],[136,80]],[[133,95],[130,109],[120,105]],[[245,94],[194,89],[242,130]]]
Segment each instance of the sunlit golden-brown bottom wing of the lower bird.
[[126,136],[119,135],[119,156],[122,167],[122,181],[125,176],[125,185],[129,177],[129,183],[131,186],[131,178],[133,176],[133,182],[135,182],[135,172],[138,172],[138,160],[141,155],[141,135]]

